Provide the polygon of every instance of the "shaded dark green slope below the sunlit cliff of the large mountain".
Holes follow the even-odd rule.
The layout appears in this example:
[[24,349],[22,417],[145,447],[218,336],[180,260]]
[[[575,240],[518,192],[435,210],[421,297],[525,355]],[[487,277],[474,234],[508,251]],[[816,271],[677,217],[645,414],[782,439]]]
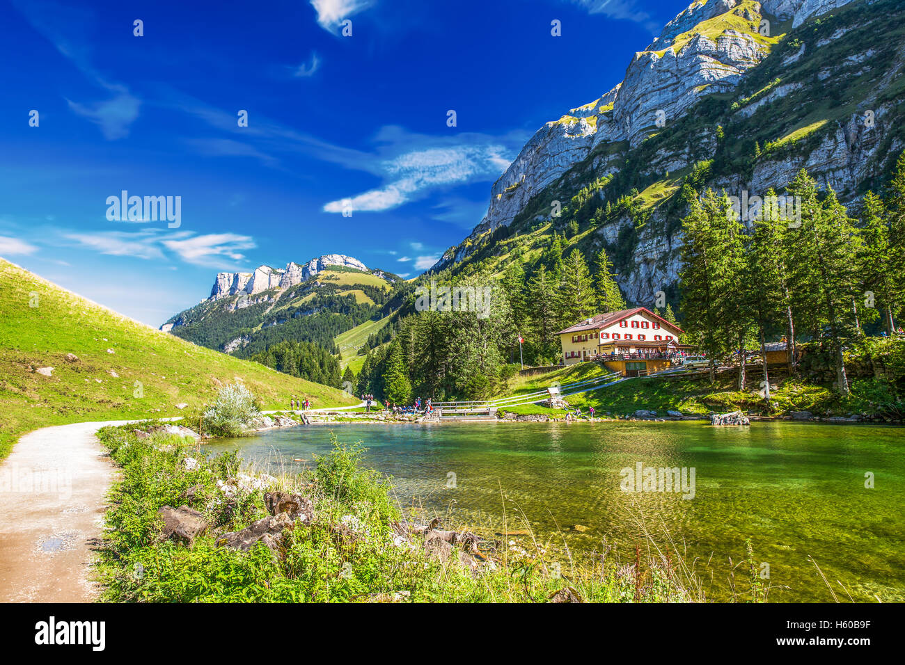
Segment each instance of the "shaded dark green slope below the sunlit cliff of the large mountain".
[[[738,20],[743,9],[690,32]],[[782,194],[805,167],[857,210],[865,191],[888,180],[905,147],[905,5],[853,3],[789,27],[774,24],[776,33],[788,32],[771,40],[738,88],[705,96],[681,119],[652,127],[636,147],[600,142],[511,223],[479,225],[433,273],[500,274],[514,260],[533,271],[558,233],[564,255],[577,247],[590,261],[604,247],[630,302],[653,306],[664,290],[674,305],[681,218],[692,189],[740,196],[766,195],[772,186]],[[559,216],[551,214],[555,202]]]

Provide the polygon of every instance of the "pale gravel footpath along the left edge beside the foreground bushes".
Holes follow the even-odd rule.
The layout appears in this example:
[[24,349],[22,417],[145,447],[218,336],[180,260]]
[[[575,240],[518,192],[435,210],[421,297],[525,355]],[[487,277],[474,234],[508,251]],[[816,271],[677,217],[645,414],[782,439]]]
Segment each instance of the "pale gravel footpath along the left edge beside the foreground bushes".
[[25,434],[0,463],[0,603],[84,603],[115,467],[75,423]]

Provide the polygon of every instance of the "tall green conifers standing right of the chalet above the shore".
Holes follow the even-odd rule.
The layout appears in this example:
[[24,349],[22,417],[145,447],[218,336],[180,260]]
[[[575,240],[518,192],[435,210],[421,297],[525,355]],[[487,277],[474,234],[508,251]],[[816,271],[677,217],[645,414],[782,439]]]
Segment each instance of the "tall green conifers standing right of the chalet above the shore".
[[711,380],[719,359],[737,354],[744,389],[742,359],[754,342],[769,399],[765,345],[781,335],[790,374],[798,342],[814,341],[833,358],[836,390],[849,394],[845,348],[864,336],[865,323],[879,321],[891,336],[905,304],[905,153],[887,190],[864,195],[860,220],[804,169],[786,187],[794,217],[764,204],[746,224],[725,193],[709,188],[692,198],[682,220],[681,313],[710,356]]

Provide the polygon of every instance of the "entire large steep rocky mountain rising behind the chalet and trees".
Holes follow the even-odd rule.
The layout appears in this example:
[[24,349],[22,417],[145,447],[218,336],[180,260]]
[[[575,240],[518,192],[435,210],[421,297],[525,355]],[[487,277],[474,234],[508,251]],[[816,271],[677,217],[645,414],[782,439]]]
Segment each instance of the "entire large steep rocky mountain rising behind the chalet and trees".
[[569,244],[605,247],[626,297],[650,305],[675,295],[683,185],[765,195],[805,167],[856,204],[905,147],[902,5],[692,3],[622,82],[538,130],[432,271],[537,261],[575,222]]

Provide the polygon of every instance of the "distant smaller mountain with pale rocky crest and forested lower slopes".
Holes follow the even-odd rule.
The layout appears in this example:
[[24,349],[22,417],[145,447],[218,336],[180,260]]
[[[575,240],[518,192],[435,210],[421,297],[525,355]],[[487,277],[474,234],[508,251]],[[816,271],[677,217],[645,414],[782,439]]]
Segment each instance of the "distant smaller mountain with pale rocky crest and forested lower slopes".
[[220,272],[207,299],[170,318],[161,330],[242,357],[283,340],[315,342],[333,351],[338,334],[383,316],[401,281],[344,254],[290,262],[283,269]]

